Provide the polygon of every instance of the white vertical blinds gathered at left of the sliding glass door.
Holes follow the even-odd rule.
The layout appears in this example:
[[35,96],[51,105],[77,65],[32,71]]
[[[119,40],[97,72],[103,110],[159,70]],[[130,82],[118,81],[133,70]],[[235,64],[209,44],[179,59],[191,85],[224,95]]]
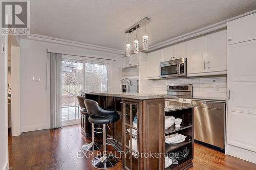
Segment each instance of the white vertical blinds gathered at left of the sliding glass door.
[[61,127],[61,54],[49,53],[51,129]]

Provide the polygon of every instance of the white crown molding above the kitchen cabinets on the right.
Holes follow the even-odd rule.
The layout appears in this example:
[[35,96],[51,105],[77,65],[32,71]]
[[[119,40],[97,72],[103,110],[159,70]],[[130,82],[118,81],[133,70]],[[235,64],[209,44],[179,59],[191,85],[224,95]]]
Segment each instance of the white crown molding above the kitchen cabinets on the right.
[[226,19],[224,21],[215,23],[214,25],[210,25],[210,26],[204,27],[202,29],[199,29],[199,30],[187,33],[187,34],[184,34],[182,36],[178,36],[178,37],[175,37],[175,38],[168,39],[166,41],[157,43],[155,45],[151,45],[150,49],[147,50],[147,51],[144,51],[144,53],[150,53],[150,52],[159,50],[160,48],[163,48],[163,47],[166,47],[166,46],[170,46],[170,45],[179,43],[181,41],[185,41],[185,40],[188,40],[188,39],[191,39],[191,38],[195,38],[195,37],[198,37],[198,36],[202,36],[202,35],[208,34],[210,32],[214,32],[214,31],[218,31],[218,30],[221,30],[221,29],[225,29],[225,28],[227,28],[227,22],[235,20],[235,19],[238,19],[238,18],[241,18],[241,17],[244,17],[244,16],[247,16],[247,15],[250,15],[250,14],[253,14],[253,13],[256,13],[256,10],[249,11],[247,13],[235,16],[233,18],[229,18],[229,19]]

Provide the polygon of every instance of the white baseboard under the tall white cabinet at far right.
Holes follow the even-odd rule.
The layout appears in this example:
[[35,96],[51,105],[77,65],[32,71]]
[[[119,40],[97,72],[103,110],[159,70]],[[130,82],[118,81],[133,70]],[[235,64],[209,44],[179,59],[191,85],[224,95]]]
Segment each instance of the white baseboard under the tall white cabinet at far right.
[[230,144],[227,144],[226,154],[252,163],[256,163],[256,152],[234,147],[233,145]]

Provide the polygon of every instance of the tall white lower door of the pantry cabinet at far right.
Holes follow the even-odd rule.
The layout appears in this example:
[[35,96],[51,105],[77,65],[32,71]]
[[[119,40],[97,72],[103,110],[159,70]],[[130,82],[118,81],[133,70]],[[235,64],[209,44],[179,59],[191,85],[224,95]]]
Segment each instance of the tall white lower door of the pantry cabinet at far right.
[[256,152],[256,40],[228,46],[227,143]]

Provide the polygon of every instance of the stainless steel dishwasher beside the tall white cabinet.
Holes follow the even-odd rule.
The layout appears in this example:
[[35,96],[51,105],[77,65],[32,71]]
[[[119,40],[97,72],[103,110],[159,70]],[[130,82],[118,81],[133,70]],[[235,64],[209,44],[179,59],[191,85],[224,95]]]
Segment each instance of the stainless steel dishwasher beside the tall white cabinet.
[[225,110],[223,102],[193,100],[194,138],[203,143],[225,149]]

